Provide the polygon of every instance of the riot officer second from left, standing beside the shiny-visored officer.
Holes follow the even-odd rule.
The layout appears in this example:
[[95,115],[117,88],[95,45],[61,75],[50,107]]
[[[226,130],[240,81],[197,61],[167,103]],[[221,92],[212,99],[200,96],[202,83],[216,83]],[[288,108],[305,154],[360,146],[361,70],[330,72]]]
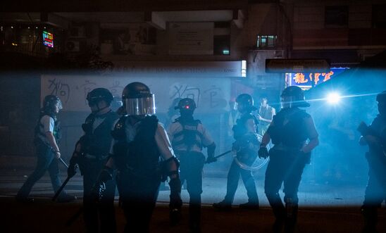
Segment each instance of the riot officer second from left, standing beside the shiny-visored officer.
[[83,175],[83,217],[86,232],[116,232],[114,196],[116,183],[106,183],[104,196],[95,203],[92,187],[108,159],[111,146],[111,128],[119,118],[111,110],[113,96],[108,89],[97,88],[87,94],[87,102],[92,113],[85,120],[82,129],[85,134],[77,142],[77,148],[70,159],[68,177],[75,175],[75,165],[80,166]]

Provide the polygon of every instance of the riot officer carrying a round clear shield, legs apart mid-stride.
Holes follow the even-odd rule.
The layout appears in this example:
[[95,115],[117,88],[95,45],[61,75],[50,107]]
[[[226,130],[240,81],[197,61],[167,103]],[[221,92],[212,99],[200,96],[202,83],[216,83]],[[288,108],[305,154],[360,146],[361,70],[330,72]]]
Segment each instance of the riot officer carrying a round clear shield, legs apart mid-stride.
[[257,157],[259,150],[259,140],[257,138],[258,120],[252,115],[255,111],[254,99],[249,94],[240,94],[236,98],[235,110],[239,111],[239,119],[233,126],[233,137],[235,142],[232,144],[232,151],[236,153],[236,158],[232,161],[228,172],[227,194],[223,201],[213,203],[214,208],[220,210],[230,210],[237,186],[241,175],[245,189],[247,189],[248,202],[241,204],[240,208],[259,209],[259,196],[256,191],[256,184],[251,170],[243,169],[238,162],[252,165]]

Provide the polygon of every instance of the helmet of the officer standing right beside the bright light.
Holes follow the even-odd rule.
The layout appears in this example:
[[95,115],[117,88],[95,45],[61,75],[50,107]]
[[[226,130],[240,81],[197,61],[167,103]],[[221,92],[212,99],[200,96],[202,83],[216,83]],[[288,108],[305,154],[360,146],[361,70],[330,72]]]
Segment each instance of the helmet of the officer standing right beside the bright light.
[[304,91],[297,86],[285,88],[280,95],[282,108],[309,107],[310,104],[304,98]]

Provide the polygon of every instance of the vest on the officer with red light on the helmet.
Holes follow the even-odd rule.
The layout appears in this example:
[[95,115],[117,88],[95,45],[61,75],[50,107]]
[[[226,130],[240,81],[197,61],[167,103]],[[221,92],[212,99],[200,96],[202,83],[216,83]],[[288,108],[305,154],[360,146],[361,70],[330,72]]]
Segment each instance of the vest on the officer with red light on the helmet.
[[199,149],[202,149],[201,141],[203,135],[197,130],[197,127],[199,124],[201,124],[201,121],[194,120],[193,118],[186,120],[180,117],[175,119],[175,122],[179,122],[182,125],[182,131],[174,134],[174,138],[178,138],[182,135],[182,139],[174,139],[172,142],[173,148],[175,148],[175,146],[185,144],[187,146],[187,151],[190,151],[194,145],[197,145]]

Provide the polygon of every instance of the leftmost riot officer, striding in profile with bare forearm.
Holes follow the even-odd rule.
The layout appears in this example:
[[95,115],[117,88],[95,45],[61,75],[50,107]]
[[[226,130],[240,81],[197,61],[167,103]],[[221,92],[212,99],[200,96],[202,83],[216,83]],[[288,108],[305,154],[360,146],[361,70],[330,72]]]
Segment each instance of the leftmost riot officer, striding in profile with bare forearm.
[[[56,119],[56,115],[62,109],[61,100],[58,96],[48,95],[44,97],[43,107],[40,110],[39,120],[35,127],[35,139],[37,154],[37,165],[28,177],[28,179],[20,188],[16,196],[18,201],[32,202],[33,199],[28,198],[34,184],[42,178],[46,170],[49,171],[51,184],[56,192],[61,187],[59,178],[58,159],[61,158],[61,152],[58,147],[58,141],[61,139],[60,122]],[[58,202],[68,202],[75,200],[75,196],[66,194],[62,191],[58,196]]]

